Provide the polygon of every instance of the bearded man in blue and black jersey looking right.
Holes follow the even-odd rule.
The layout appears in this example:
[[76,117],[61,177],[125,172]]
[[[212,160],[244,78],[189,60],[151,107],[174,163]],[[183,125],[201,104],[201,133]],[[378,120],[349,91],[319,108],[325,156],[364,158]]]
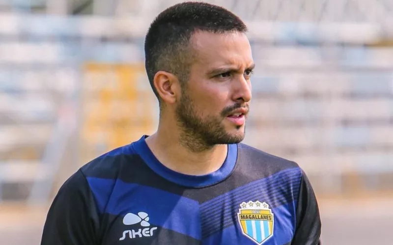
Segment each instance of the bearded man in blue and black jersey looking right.
[[[42,245],[317,245],[305,173],[240,144],[254,63],[246,25],[185,2],[145,40],[157,132],[83,166],[59,190]],[[138,115],[130,115],[130,117]]]

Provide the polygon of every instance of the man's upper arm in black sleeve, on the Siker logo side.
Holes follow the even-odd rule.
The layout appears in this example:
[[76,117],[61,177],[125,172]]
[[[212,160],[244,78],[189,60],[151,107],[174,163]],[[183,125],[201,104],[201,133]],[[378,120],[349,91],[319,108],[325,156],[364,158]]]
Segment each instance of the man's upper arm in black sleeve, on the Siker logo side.
[[81,170],[58,191],[47,215],[41,245],[95,245],[95,202]]

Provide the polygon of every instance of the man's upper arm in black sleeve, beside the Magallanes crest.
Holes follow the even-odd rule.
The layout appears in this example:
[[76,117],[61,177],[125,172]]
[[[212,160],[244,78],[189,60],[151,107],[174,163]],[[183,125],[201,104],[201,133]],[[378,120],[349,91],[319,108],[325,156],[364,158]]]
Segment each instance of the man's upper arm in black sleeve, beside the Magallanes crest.
[[308,177],[302,173],[296,208],[296,230],[291,245],[319,245],[321,220],[318,203]]

